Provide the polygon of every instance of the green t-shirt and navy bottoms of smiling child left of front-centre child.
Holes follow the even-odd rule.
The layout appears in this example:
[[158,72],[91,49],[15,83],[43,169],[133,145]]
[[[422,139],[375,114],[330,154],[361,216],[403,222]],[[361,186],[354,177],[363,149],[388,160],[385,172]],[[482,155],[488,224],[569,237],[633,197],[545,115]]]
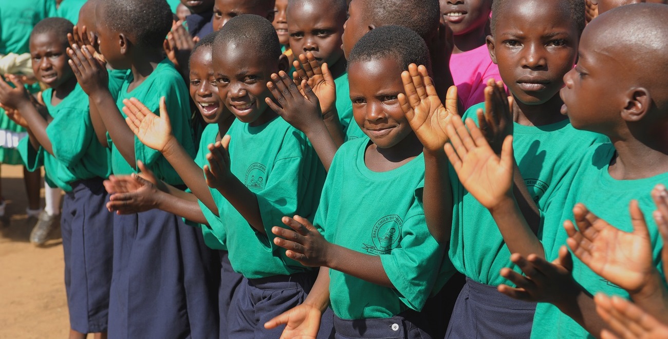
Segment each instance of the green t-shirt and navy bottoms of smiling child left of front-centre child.
[[234,121],[230,135],[230,171],[256,197],[266,234],[256,232],[221,195],[213,198],[226,234],[232,268],[244,276],[228,313],[230,338],[278,338],[283,326],[265,330],[271,318],[301,304],[316,273],[285,256],[273,243],[273,226],[283,216],[313,220],[325,171],[306,136],[281,117],[260,125]]

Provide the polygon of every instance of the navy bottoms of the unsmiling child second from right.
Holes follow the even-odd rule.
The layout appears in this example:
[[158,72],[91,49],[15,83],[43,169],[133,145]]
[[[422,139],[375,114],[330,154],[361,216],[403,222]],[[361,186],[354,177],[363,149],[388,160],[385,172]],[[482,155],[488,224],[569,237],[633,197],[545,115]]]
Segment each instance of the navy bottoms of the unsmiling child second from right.
[[466,279],[457,298],[446,338],[529,338],[536,303],[516,300]]

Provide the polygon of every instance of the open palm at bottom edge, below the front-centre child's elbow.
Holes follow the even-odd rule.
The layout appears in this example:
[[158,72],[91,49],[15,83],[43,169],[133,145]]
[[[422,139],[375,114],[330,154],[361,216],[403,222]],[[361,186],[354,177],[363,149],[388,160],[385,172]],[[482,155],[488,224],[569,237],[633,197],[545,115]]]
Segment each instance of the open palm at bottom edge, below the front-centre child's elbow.
[[271,330],[285,325],[281,339],[315,339],[320,329],[322,316],[323,312],[317,307],[299,304],[266,322],[265,328]]

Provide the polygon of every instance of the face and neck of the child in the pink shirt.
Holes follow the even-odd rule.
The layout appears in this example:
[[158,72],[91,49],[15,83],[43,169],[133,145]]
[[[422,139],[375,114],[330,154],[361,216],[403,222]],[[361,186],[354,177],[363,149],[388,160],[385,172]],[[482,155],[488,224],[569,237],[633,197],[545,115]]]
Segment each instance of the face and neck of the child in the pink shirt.
[[470,51],[485,44],[491,0],[440,0],[441,21],[454,35],[453,53]]

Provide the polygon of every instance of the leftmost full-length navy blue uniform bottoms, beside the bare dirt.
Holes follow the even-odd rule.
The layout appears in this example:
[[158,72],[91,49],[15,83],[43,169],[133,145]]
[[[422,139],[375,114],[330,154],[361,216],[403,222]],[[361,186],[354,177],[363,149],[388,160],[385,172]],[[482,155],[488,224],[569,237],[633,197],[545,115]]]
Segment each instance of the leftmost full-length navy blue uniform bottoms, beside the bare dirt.
[[102,179],[71,186],[61,216],[69,326],[81,333],[107,332],[114,216]]

